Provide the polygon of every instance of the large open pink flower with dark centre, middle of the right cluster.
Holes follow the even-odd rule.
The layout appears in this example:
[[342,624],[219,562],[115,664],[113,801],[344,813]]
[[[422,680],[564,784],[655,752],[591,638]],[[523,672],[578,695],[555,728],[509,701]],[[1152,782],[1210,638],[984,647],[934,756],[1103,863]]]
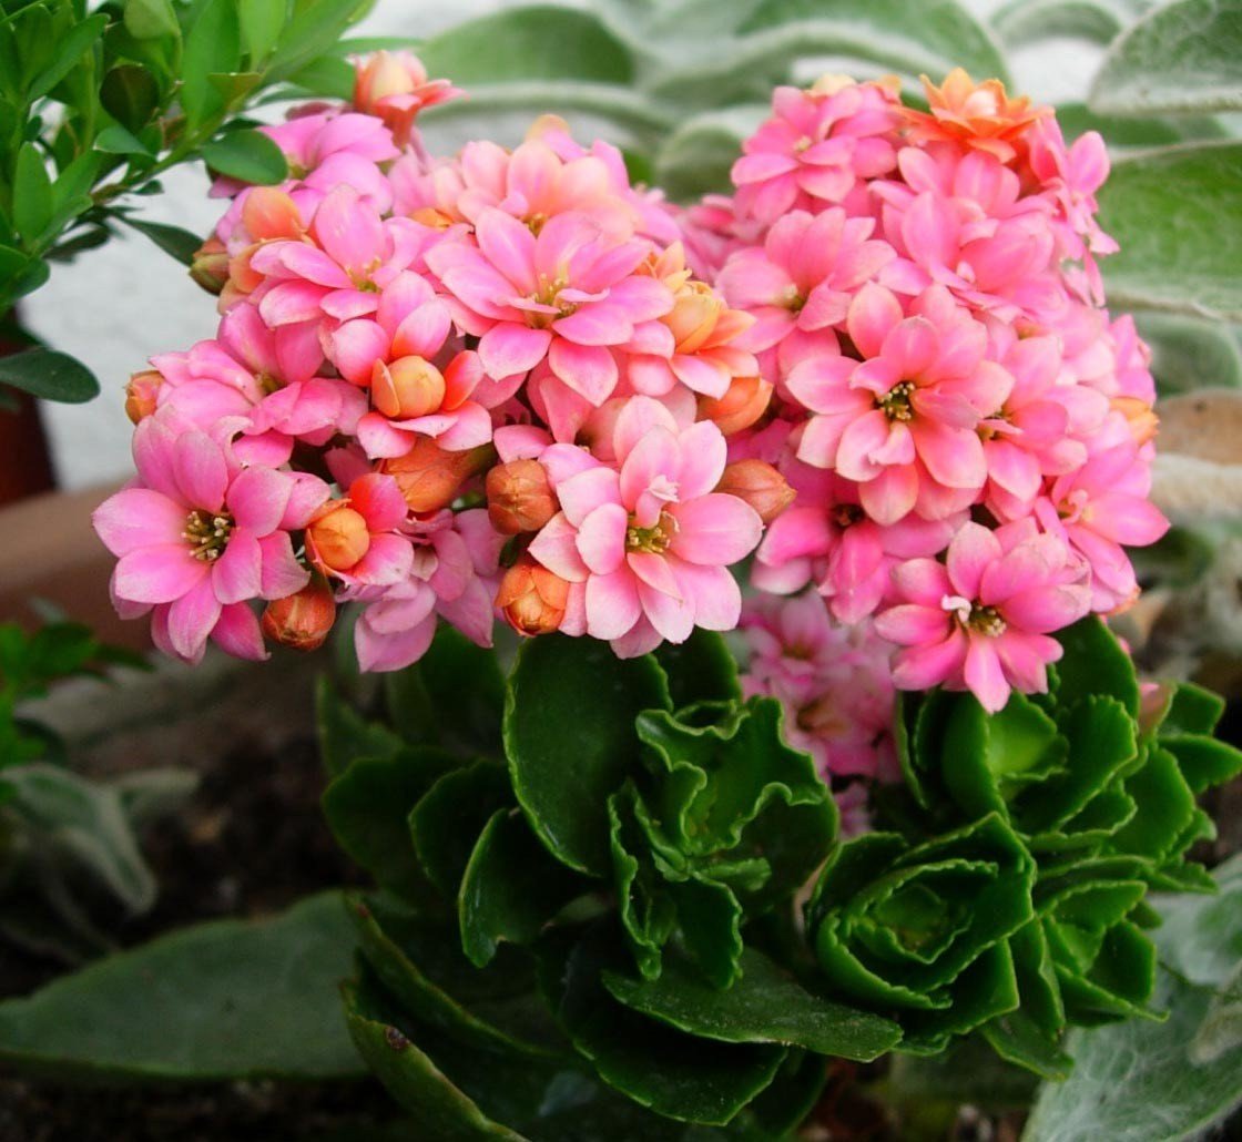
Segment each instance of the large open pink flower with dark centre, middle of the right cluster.
[[862,364],[820,356],[790,374],[790,391],[817,413],[799,459],[856,480],[862,506],[882,524],[915,508],[936,519],[968,506],[987,479],[976,426],[1013,384],[984,360],[984,326],[943,289],[929,289],[904,317],[874,284],[853,300],[846,326]]

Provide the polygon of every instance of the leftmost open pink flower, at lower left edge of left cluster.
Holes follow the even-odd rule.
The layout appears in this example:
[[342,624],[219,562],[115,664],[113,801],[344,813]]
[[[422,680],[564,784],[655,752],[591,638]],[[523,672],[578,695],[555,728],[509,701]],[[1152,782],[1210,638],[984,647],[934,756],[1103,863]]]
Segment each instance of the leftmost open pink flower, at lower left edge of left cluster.
[[322,480],[242,468],[227,447],[197,428],[178,432],[164,413],[138,426],[134,463],[140,483],[104,500],[94,529],[119,559],[114,598],[130,613],[166,605],[158,618],[179,657],[196,659],[212,632],[257,631],[247,600],[307,585],[289,531],[327,498]]

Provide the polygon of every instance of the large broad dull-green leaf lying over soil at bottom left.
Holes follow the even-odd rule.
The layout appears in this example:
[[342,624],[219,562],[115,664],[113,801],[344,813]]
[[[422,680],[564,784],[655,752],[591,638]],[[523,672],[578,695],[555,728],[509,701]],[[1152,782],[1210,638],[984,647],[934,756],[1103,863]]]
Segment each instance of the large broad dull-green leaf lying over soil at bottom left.
[[354,1077],[335,994],[351,947],[338,892],[183,928],[0,1003],[0,1059],[62,1077]]

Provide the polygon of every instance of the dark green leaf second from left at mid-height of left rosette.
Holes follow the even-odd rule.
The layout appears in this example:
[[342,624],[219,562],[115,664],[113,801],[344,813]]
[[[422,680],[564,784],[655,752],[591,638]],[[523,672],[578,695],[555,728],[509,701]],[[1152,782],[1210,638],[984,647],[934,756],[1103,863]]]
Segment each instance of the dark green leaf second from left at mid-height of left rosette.
[[504,766],[476,761],[450,770],[410,813],[410,835],[427,879],[456,899],[479,833],[492,814],[513,804]]

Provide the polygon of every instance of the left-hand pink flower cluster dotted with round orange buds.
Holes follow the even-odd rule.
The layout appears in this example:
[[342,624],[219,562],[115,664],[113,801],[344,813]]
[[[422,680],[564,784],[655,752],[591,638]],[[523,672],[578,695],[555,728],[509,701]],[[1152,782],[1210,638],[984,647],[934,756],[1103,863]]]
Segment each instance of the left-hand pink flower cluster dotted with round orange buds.
[[133,377],[138,477],[94,518],[118,609],[179,658],[313,647],[347,602],[369,670],[440,618],[625,655],[738,623],[728,566],[763,521],[725,432],[766,402],[754,318],[694,278],[615,148],[545,119],[430,156],[416,118],[456,94],[370,57],[353,106],[263,128],[288,181],[212,189],[193,274],[219,329]]

